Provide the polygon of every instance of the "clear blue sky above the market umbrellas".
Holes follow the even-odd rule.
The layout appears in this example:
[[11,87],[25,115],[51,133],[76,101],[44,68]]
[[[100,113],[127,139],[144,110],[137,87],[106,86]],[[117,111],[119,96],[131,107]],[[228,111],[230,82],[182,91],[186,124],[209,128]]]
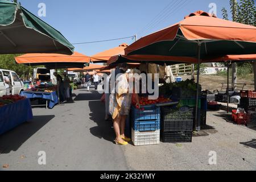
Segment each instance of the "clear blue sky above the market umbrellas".
[[[39,3],[46,5],[46,16],[39,17],[60,31],[70,43],[138,38],[168,27],[197,10],[209,12],[216,5],[218,18],[221,9],[228,11],[229,0],[18,0],[23,7],[38,16]],[[229,18],[230,15],[229,15]],[[135,39],[74,45],[75,51],[92,56],[98,52],[131,44]]]

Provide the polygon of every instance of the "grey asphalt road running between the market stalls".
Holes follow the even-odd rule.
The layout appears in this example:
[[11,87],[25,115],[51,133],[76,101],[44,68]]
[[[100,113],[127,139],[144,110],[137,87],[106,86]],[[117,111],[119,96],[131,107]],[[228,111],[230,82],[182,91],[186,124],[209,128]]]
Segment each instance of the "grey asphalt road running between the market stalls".
[[[208,112],[208,127],[192,143],[117,146],[100,94],[73,96],[52,110],[34,108],[31,122],[0,136],[0,170],[256,170],[256,129],[234,125],[224,111]],[[46,165],[38,164],[39,151]]]

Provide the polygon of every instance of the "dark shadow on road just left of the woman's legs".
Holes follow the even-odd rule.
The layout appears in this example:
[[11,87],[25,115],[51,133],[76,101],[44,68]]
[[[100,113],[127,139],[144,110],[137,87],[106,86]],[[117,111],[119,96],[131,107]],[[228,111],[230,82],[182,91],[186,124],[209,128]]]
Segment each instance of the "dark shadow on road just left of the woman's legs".
[[[99,94],[100,96],[100,94]],[[96,127],[90,128],[90,133],[95,137],[104,138],[109,142],[113,142],[115,135],[112,129],[113,123],[105,121],[105,106],[100,101],[89,101],[90,119],[97,123]]]

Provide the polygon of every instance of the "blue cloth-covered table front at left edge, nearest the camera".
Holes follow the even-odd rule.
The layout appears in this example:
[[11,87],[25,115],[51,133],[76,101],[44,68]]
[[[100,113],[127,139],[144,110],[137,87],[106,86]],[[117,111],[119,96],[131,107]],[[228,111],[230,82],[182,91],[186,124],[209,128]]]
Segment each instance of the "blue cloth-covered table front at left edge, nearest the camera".
[[30,100],[0,107],[0,135],[33,118]]

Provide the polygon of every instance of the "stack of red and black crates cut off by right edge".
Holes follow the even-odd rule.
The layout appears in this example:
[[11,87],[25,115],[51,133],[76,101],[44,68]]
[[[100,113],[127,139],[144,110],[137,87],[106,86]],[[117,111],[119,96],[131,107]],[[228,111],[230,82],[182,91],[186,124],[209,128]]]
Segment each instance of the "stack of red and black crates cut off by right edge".
[[240,95],[240,107],[245,111],[248,111],[250,106],[256,106],[256,91],[242,90]]

